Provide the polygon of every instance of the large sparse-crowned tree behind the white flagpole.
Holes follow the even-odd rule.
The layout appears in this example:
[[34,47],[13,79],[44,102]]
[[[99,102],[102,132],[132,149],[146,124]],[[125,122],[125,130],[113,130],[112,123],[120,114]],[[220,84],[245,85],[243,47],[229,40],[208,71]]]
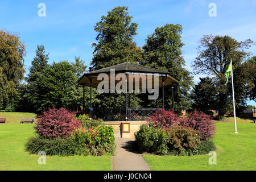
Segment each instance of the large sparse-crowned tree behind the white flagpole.
[[[253,44],[250,39],[245,42],[237,42],[230,36],[205,35],[200,40],[199,56],[193,62],[195,73],[207,73],[216,80],[217,86],[217,108],[220,117],[228,111],[228,105],[232,102],[232,88],[230,82],[225,85],[225,72],[232,59],[234,72],[234,91],[237,106],[243,104],[242,97],[246,90],[246,72],[241,71],[242,63],[250,56],[245,52]],[[240,69],[240,70],[239,70]],[[243,75],[245,74],[245,75]]]

